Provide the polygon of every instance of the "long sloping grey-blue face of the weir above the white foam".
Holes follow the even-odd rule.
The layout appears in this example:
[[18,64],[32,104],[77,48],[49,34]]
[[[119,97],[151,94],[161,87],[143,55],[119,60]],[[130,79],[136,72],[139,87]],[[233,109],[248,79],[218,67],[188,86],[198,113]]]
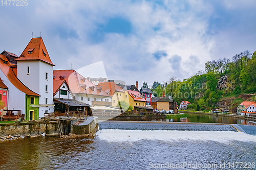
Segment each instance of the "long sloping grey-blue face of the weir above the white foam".
[[205,124],[205,123],[165,123],[165,122],[126,122],[104,121],[99,122],[99,129],[120,130],[170,130],[170,131],[234,131],[230,124]]

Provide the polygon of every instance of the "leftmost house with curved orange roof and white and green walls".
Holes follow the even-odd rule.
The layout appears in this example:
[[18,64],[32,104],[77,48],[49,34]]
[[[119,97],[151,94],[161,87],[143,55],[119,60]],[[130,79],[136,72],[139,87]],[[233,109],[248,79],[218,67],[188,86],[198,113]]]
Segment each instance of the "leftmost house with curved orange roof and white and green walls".
[[4,108],[6,108],[2,110],[2,112],[5,111],[3,117],[16,119],[24,116],[26,120],[38,119],[40,95],[25,86],[16,77],[12,66],[13,64],[6,56],[0,54],[1,96]]

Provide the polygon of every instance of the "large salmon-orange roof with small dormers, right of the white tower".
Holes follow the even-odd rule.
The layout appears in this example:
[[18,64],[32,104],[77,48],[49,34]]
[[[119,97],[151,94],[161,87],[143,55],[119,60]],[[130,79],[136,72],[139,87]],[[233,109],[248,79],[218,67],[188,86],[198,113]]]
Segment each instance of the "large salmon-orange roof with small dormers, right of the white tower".
[[78,72],[73,69],[67,70],[54,70],[53,76],[55,80],[59,80],[59,77],[65,77],[67,84],[69,85],[72,93],[84,93],[84,94],[93,94],[93,95],[102,95],[110,96],[105,93],[103,90],[97,89],[92,82],[81,76]]

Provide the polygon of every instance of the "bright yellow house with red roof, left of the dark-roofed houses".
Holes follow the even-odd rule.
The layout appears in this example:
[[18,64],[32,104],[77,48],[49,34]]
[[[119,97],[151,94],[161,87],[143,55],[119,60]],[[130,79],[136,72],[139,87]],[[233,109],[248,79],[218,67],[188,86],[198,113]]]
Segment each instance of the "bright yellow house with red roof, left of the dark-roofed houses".
[[125,90],[124,92],[124,101],[131,105],[134,109],[134,106],[145,107],[146,100],[143,95],[138,91],[133,90]]

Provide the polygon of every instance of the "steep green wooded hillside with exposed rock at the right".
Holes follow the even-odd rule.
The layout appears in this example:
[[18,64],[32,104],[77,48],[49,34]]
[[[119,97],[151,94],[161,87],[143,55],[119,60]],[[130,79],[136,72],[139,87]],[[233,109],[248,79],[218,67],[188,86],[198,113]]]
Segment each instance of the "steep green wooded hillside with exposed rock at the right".
[[205,63],[205,71],[183,81],[175,77],[159,84],[154,82],[155,96],[172,96],[178,104],[189,101],[189,109],[229,109],[235,113],[243,101],[256,101],[256,51],[236,54],[232,59],[219,59]]

